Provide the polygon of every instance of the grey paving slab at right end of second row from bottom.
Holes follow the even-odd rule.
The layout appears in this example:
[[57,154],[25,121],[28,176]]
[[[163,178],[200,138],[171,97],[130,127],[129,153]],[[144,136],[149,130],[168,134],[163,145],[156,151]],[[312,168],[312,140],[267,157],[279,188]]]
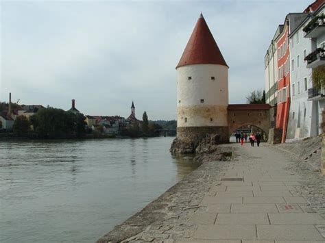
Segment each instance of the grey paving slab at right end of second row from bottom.
[[325,224],[325,220],[318,214],[292,213],[269,214],[271,225],[317,225]]

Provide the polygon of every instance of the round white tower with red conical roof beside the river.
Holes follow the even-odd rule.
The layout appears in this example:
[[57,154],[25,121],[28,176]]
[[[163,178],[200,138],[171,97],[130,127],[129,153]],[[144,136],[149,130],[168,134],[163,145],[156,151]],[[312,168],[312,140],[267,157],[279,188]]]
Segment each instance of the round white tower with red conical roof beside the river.
[[176,72],[178,140],[228,142],[228,65],[202,14]]

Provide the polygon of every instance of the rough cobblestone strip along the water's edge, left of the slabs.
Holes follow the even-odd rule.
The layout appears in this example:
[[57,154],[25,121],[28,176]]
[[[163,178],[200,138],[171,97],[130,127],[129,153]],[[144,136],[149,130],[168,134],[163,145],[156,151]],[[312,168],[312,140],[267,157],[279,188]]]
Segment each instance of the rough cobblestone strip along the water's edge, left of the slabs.
[[[229,149],[229,144],[219,145],[221,148]],[[221,151],[223,151],[221,149]],[[205,154],[202,154],[202,157]],[[224,166],[227,161],[206,161],[198,168],[193,170],[184,179],[171,186],[166,192],[158,196],[157,199],[146,205],[140,212],[136,212],[127,220],[116,225],[114,229],[97,240],[97,243],[104,242],[123,242],[123,240],[136,240],[136,235],[142,233],[147,227],[154,229],[158,237],[169,229],[163,229],[163,222],[169,221],[178,225],[178,222],[189,218],[199,207],[202,197],[216,179],[219,166]],[[183,225],[183,224],[182,224]],[[178,225],[179,226],[179,225]],[[176,229],[177,227],[173,227]],[[182,228],[182,229],[181,229]],[[190,225],[185,227],[190,229]],[[176,234],[186,232],[180,227]],[[177,236],[177,235],[175,235]],[[141,241],[153,241],[152,235],[141,235]]]

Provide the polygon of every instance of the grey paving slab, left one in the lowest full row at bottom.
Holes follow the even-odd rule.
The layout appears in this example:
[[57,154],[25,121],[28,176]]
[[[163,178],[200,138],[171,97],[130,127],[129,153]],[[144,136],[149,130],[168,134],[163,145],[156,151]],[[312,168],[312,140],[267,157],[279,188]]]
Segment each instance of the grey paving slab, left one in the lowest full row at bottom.
[[195,239],[256,240],[255,225],[199,225]]

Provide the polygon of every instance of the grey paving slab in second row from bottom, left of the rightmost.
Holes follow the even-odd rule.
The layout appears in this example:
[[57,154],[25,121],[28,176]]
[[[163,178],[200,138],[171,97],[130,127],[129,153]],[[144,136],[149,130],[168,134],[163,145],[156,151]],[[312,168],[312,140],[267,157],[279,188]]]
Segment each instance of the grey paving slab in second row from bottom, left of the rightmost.
[[215,225],[269,225],[267,214],[218,214]]

